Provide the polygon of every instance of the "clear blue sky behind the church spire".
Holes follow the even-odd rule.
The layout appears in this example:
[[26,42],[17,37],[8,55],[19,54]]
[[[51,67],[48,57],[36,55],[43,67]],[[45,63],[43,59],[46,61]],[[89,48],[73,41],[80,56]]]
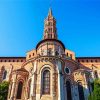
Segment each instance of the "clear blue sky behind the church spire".
[[26,56],[34,49],[50,6],[65,47],[76,56],[100,56],[100,1],[51,1],[0,0],[0,56]]

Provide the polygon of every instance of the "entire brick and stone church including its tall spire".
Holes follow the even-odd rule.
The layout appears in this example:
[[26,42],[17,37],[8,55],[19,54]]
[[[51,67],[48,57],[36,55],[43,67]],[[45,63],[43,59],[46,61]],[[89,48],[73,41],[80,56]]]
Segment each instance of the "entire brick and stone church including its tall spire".
[[66,49],[51,9],[35,49],[26,57],[0,57],[0,82],[10,83],[7,100],[87,100],[95,78],[100,57],[75,57]]

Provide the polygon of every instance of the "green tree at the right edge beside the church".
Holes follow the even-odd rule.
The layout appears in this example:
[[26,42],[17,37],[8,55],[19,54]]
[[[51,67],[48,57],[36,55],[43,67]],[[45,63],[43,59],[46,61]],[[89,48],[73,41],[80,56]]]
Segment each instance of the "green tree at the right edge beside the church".
[[100,100],[100,79],[94,81],[94,90],[89,95],[88,100]]

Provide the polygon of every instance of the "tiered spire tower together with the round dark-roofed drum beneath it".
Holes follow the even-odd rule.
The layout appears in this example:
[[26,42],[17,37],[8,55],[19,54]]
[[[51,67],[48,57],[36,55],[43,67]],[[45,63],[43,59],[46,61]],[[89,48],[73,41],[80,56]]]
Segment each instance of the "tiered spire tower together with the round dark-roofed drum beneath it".
[[64,44],[57,39],[56,20],[49,9],[47,18],[44,21],[43,40],[37,46],[37,54],[41,56],[61,56],[65,52]]

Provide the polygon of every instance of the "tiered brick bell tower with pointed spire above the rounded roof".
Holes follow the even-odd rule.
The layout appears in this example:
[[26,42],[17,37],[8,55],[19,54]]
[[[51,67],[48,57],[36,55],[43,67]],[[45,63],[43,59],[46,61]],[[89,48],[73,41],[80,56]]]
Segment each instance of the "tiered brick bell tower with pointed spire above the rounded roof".
[[47,18],[44,21],[44,36],[43,39],[57,39],[56,32],[56,20],[52,15],[51,8],[49,9],[49,13]]

